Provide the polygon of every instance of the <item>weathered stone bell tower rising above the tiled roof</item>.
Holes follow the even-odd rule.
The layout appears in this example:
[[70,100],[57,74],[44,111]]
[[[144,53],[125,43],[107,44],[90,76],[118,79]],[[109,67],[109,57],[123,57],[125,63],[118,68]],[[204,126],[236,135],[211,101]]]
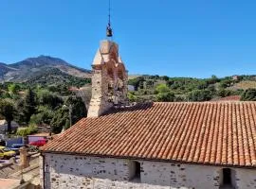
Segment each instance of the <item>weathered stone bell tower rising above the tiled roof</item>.
[[92,97],[88,117],[101,116],[127,99],[128,73],[119,56],[119,45],[102,41],[92,64]]

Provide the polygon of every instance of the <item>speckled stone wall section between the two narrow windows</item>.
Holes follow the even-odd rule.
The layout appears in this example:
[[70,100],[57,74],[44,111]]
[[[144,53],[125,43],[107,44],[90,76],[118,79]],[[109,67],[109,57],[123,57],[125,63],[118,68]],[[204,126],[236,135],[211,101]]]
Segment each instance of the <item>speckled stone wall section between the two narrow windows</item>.
[[184,188],[219,188],[219,167],[184,163],[141,162],[141,182]]

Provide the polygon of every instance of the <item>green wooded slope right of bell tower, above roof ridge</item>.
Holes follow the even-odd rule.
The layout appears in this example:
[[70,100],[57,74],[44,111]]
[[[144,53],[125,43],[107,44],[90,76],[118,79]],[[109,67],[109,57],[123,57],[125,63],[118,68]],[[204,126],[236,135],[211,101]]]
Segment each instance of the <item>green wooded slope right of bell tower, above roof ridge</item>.
[[218,78],[141,76],[129,80],[134,92],[130,101],[209,101],[229,95],[240,95],[241,100],[256,100],[256,76]]

